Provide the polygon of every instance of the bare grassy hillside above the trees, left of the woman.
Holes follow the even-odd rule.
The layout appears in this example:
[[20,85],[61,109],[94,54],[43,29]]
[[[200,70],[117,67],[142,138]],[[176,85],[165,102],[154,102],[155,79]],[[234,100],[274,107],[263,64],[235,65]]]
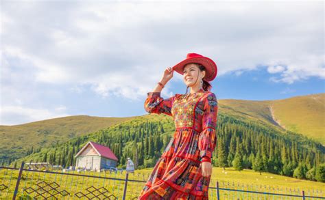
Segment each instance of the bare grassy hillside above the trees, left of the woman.
[[53,146],[133,118],[77,115],[16,126],[0,126],[0,160],[20,158],[31,147],[36,149]]

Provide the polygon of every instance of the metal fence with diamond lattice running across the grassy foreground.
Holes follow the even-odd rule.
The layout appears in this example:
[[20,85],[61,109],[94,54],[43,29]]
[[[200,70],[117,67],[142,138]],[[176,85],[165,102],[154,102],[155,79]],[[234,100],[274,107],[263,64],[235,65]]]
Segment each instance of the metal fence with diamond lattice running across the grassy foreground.
[[[0,167],[0,199],[137,199],[148,175],[125,171],[33,170],[24,169],[22,163],[19,169]],[[210,184],[209,199],[325,199],[320,190],[272,191],[262,186],[215,182],[215,186]]]

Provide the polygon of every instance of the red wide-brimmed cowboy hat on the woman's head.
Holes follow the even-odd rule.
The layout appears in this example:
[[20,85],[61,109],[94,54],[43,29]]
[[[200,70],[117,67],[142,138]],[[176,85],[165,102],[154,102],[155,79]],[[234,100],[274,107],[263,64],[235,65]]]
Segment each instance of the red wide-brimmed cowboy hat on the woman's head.
[[212,59],[208,57],[204,57],[197,53],[188,53],[186,59],[178,63],[176,66],[173,66],[173,70],[176,72],[183,74],[183,68],[188,63],[199,63],[206,68],[206,76],[204,76],[204,80],[212,81],[217,76],[217,65]]

